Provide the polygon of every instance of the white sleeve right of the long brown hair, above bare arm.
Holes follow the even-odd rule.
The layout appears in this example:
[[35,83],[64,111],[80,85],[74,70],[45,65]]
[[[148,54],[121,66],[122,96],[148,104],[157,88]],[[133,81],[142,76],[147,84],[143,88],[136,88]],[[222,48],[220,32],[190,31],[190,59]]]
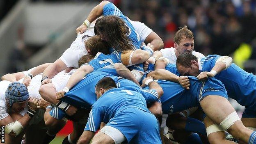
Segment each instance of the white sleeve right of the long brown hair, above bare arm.
[[141,23],[139,21],[131,21],[133,27],[135,28],[135,31],[139,34],[139,38],[142,42],[145,41],[146,37],[149,36],[153,30],[151,30],[148,26],[146,26],[144,23]]

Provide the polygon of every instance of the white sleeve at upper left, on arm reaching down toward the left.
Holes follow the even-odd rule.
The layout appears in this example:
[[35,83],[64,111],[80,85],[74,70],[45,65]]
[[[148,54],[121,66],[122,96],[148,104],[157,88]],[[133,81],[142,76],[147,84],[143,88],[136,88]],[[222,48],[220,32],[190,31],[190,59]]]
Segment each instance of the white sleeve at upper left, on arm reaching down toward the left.
[[67,67],[78,68],[78,60],[80,59],[82,50],[76,50],[73,48],[68,48],[62,54],[60,59],[66,64]]

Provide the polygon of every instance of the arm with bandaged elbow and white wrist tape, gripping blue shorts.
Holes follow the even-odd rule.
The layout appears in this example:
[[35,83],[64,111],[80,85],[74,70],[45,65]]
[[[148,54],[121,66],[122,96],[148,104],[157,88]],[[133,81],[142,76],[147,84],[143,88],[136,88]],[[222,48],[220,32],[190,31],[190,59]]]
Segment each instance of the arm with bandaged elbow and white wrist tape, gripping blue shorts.
[[211,71],[210,72],[203,71],[197,76],[197,78],[199,80],[205,80],[208,77],[214,77],[219,72],[228,69],[229,66],[231,66],[232,64],[232,61],[233,61],[232,57],[229,57],[229,56],[218,57]]

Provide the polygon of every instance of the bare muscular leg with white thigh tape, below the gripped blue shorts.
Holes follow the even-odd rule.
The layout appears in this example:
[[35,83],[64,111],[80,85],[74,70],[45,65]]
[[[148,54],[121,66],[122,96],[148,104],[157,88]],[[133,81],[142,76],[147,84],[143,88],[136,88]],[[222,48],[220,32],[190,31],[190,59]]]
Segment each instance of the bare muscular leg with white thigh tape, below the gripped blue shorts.
[[200,101],[206,115],[215,123],[220,124],[236,139],[243,142],[256,142],[256,132],[246,128],[237,116],[229,101],[222,96],[206,96]]

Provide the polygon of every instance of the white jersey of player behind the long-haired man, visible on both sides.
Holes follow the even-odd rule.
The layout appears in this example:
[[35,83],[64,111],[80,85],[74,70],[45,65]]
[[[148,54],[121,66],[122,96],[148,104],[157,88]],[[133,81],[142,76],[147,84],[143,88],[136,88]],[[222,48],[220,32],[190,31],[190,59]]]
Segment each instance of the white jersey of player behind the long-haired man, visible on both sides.
[[[135,28],[136,32],[139,34],[140,40],[144,42],[146,37],[153,32],[149,27],[144,25],[144,23],[138,22],[138,21],[131,21],[133,27]],[[78,34],[77,38],[71,46],[65,50],[65,52],[62,54],[60,59],[66,64],[67,67],[73,67],[78,69],[78,61],[79,59],[87,55],[88,52],[85,49],[85,41],[91,37],[94,36],[94,25],[91,24],[90,27],[83,33]]]

